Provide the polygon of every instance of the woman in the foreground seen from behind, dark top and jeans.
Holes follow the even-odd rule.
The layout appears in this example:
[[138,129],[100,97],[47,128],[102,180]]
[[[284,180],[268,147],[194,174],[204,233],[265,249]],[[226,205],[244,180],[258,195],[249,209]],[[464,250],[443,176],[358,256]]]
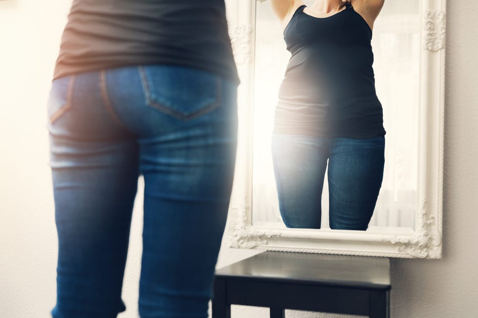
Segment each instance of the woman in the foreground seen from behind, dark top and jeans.
[[141,318],[207,317],[231,194],[236,66],[223,0],[74,0],[48,102],[54,318],[113,318],[144,176]]

